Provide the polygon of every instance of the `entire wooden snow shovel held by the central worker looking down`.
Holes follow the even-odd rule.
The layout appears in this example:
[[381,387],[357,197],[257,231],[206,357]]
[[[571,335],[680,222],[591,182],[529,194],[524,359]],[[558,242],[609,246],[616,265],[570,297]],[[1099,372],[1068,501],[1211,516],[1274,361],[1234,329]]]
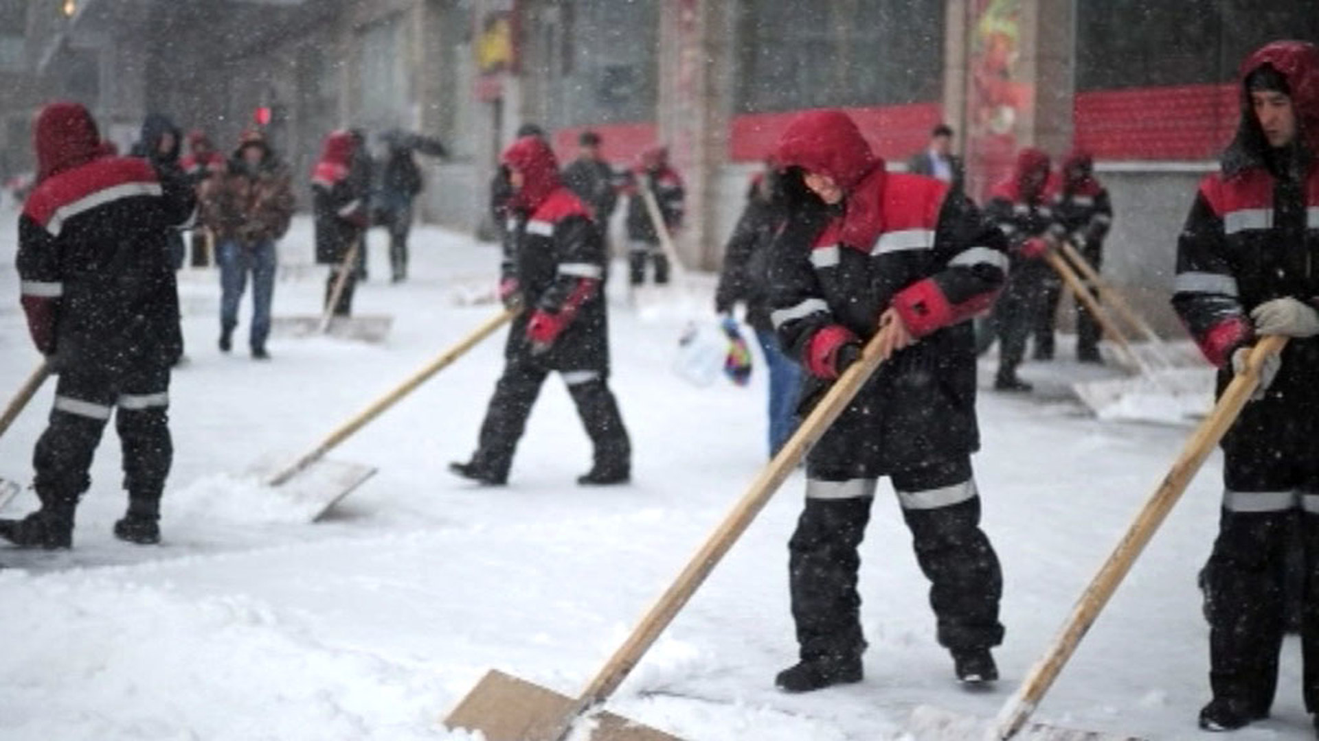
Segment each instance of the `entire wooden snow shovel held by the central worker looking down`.
[[[747,493],[733,505],[700,550],[687,562],[682,574],[646,612],[580,696],[567,697],[553,690],[491,671],[445,719],[445,725],[450,729],[480,730],[487,741],[565,741],[570,734],[578,741],[673,740],[673,736],[641,725],[615,725],[609,719],[616,716],[591,713],[619,688],[737,538],[747,531],[769,497],[793,473],[806,451],[820,439],[861,385],[874,373],[880,365],[882,336],[876,335],[867,343],[860,360],[839,377],[810,415],[802,421],[787,444],[752,481]],[[583,719],[588,715],[590,719]],[[590,723],[595,725],[587,729],[586,725]]]

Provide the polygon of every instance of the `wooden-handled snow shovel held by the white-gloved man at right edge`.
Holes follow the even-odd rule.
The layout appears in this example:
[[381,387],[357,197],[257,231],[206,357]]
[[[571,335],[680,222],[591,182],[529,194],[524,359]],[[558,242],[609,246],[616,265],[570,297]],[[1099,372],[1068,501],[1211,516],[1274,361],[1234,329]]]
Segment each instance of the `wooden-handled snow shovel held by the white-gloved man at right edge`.
[[[1080,643],[1080,639],[1089,630],[1091,625],[1095,624],[1100,610],[1104,609],[1113,592],[1117,591],[1117,585],[1132,570],[1132,564],[1136,563],[1141,551],[1149,545],[1154,537],[1154,531],[1163,523],[1167,514],[1173,512],[1173,506],[1182,497],[1182,493],[1200,469],[1200,465],[1204,464],[1204,459],[1210,456],[1213,447],[1217,446],[1223,435],[1236,422],[1237,415],[1241,414],[1241,409],[1250,401],[1250,394],[1260,385],[1260,367],[1265,359],[1282,352],[1286,344],[1287,338],[1266,336],[1254,345],[1246,360],[1246,368],[1232,378],[1228,388],[1223,390],[1223,396],[1219,397],[1217,403],[1213,405],[1213,411],[1195,429],[1195,432],[1186,442],[1177,460],[1173,461],[1173,467],[1163,477],[1163,481],[1159,483],[1154,493],[1145,501],[1145,506],[1141,508],[1136,519],[1132,521],[1122,539],[1117,542],[1108,560],[1104,562],[1099,572],[1086,587],[1086,591],[1082,592],[1080,599],[1076,600],[1076,605],[1058,630],[1053,643],[1049,645],[1045,655],[1030,668],[1030,674],[1026,675],[1017,692],[1004,703],[998,711],[998,717],[988,725],[967,725],[967,723],[972,721],[955,720],[954,716],[935,708],[918,708],[918,712],[913,715],[911,724],[918,730],[925,729],[927,732],[926,736],[917,736],[918,738],[930,741],[936,738],[948,738],[950,741],[952,738],[975,738],[976,733],[968,730],[968,728],[980,728],[983,729],[983,733],[979,734],[980,738],[987,741],[1006,741],[1028,728],[1026,721],[1035,712],[1045,692],[1058,679],[1067,659],[1071,658]],[[946,725],[940,725],[940,717],[947,719]],[[944,728],[948,730],[944,730]],[[1041,741],[1088,738],[1087,736],[1076,736],[1079,733],[1076,730],[1058,729],[1055,734],[1042,725],[1031,725],[1029,730],[1030,733],[1021,737],[1039,738]],[[943,733],[956,734],[946,736]],[[1108,737],[1095,736],[1093,738]]]

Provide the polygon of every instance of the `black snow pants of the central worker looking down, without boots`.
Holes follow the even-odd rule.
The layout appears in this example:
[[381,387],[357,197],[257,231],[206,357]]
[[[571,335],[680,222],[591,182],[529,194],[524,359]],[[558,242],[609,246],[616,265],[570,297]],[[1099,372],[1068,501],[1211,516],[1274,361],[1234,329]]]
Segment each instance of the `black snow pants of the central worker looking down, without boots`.
[[[939,643],[950,650],[1002,642],[998,558],[980,530],[971,459],[959,456],[890,476],[917,562],[930,580]],[[877,479],[828,481],[811,473],[806,509],[789,542],[789,581],[803,661],[860,657],[857,554],[871,519]]]

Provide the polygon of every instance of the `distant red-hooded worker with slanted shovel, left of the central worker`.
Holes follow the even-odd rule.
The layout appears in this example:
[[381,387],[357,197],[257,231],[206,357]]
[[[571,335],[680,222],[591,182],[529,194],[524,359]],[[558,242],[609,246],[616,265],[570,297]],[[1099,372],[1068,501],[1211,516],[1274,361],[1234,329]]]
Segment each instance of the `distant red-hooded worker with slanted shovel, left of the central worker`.
[[669,148],[654,145],[641,153],[641,163],[633,170],[627,186],[628,194],[628,278],[633,286],[646,282],[646,265],[654,264],[656,285],[669,282],[669,256],[660,244],[650,212],[641,196],[641,189],[654,195],[660,216],[670,236],[682,228],[686,195],[682,177],[669,166]]

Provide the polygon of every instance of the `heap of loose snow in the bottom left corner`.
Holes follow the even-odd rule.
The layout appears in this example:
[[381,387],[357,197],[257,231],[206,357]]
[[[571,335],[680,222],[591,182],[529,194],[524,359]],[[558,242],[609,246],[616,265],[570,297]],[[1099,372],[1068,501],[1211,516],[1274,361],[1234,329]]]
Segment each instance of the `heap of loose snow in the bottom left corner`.
[[77,574],[5,574],[0,591],[0,624],[17,638],[0,653],[7,740],[448,736],[426,730],[443,691],[423,668],[324,645],[251,597]]

